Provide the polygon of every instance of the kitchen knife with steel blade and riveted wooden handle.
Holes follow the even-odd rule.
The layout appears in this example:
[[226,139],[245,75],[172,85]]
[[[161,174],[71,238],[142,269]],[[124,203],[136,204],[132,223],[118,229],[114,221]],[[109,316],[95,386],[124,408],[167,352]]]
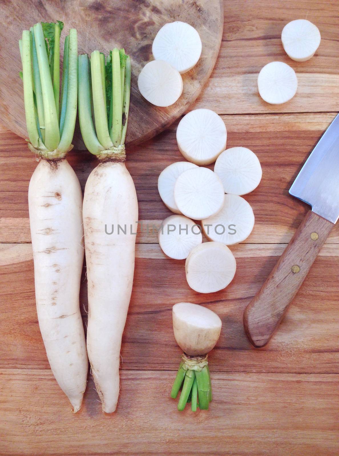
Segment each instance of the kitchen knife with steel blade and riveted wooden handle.
[[264,347],[272,337],[339,218],[339,114],[308,157],[290,194],[312,210],[244,311],[245,332],[254,347]]

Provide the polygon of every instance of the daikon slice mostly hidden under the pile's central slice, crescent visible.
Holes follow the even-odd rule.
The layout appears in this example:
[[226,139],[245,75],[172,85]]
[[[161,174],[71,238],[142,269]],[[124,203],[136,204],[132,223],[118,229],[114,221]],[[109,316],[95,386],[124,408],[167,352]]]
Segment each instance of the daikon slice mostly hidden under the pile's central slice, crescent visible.
[[181,214],[174,200],[174,185],[181,173],[192,168],[197,168],[194,163],[189,161],[177,161],[167,166],[158,178],[158,191],[164,205],[175,214]]

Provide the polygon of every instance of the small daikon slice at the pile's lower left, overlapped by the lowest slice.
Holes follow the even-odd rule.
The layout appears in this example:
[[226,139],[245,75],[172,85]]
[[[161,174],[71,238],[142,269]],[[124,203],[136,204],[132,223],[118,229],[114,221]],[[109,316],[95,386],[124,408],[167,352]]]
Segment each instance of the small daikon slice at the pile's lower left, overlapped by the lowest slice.
[[171,215],[158,233],[164,254],[173,259],[185,259],[196,245],[201,244],[201,227],[183,215]]

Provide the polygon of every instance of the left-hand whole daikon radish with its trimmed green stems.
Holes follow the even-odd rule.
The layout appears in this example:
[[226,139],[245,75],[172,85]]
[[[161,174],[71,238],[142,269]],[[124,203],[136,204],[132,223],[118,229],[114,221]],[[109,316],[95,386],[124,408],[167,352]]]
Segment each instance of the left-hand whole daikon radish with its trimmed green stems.
[[88,371],[79,309],[84,231],[80,184],[65,157],[73,147],[78,42],[70,29],[59,100],[63,26],[60,21],[36,24],[23,31],[19,46],[28,146],[40,157],[28,189],[37,316],[54,377],[77,412]]

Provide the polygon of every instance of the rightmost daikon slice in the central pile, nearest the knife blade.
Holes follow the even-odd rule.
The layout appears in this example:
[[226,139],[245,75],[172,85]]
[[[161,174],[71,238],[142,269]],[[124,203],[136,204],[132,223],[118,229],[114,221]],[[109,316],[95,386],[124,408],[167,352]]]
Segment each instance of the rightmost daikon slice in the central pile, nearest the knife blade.
[[246,147],[231,147],[217,158],[214,172],[220,177],[225,193],[245,195],[258,187],[262,171],[258,157]]

